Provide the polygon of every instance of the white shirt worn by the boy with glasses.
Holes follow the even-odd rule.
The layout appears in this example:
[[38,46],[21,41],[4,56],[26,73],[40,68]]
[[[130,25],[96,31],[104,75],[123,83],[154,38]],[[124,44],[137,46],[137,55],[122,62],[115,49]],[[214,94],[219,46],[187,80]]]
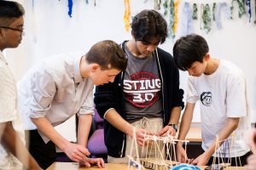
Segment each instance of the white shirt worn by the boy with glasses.
[[[17,93],[15,78],[9,70],[8,63],[0,51],[0,123],[12,122],[20,139],[25,143],[25,135],[17,111]],[[0,127],[0,140],[3,127]],[[22,169],[20,161],[0,143],[0,169]]]

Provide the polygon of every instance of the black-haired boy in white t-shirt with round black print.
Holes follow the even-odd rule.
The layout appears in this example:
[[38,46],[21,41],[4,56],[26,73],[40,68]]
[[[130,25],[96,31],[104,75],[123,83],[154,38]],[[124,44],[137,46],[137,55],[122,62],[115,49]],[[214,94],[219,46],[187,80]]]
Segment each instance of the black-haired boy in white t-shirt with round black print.
[[[250,128],[250,121],[243,72],[230,61],[211,58],[207,41],[196,34],[178,39],[173,47],[173,56],[177,67],[189,72],[187,105],[178,139],[185,139],[195,103],[200,100],[204,151],[192,164],[212,164],[213,156],[217,156],[223,158],[217,159],[217,163],[218,160],[227,162],[231,158],[231,165],[244,165],[250,152],[242,134]],[[222,145],[218,154],[214,153],[218,147],[215,144],[217,136],[218,141],[225,140],[220,142]],[[231,144],[232,136],[235,143]],[[177,160],[183,162],[186,158],[182,143],[178,143]]]

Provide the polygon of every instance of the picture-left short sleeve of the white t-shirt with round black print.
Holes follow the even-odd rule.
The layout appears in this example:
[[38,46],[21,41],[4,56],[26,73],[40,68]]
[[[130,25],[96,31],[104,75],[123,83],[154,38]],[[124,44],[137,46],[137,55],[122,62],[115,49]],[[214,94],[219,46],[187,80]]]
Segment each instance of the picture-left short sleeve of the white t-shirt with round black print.
[[199,94],[195,88],[195,80],[193,77],[188,77],[188,92],[187,92],[187,102],[195,104],[199,100]]

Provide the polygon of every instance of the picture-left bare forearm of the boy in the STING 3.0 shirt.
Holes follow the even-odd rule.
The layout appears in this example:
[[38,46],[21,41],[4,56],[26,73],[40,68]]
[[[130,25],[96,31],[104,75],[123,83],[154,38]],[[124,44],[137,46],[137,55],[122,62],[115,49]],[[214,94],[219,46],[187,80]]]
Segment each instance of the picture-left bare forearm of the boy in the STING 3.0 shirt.
[[123,117],[119,115],[117,111],[114,109],[109,110],[105,116],[105,119],[113,126],[122,131],[123,133],[132,136],[133,135],[133,127],[131,124]]

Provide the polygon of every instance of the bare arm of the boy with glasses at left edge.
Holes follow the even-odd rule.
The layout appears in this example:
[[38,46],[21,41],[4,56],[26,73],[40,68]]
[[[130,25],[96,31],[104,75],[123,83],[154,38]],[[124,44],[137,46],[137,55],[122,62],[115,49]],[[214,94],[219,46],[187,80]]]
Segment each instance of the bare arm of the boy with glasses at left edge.
[[[2,123],[1,123],[2,124]],[[2,144],[11,152],[15,157],[17,157],[22,164],[28,168],[38,168],[38,163],[30,155],[28,150],[26,150],[25,144],[22,143],[20,136],[15,132],[15,129],[11,122],[6,122],[4,124]]]

